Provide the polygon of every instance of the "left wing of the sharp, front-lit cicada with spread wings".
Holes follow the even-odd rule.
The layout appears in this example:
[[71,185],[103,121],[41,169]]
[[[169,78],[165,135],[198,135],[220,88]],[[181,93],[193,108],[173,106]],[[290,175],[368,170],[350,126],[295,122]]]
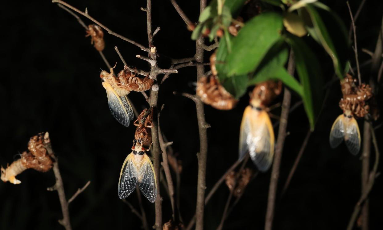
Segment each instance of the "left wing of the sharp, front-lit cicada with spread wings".
[[133,162],[133,154],[129,154],[122,165],[118,180],[118,197],[125,199],[136,188],[138,177],[136,164]]

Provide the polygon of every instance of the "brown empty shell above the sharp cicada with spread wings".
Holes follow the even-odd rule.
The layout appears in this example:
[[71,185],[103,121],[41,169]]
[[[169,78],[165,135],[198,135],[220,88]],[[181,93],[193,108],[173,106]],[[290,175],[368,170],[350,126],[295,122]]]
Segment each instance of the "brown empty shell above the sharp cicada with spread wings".
[[143,146],[149,146],[152,143],[152,128],[153,128],[153,110],[147,108],[141,112],[133,125],[137,126],[134,138],[141,140]]

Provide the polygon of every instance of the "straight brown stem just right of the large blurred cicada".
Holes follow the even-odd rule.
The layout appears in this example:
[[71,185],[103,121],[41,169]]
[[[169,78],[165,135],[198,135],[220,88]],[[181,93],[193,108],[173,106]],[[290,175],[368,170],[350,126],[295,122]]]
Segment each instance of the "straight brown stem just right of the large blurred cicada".
[[[290,58],[288,61],[287,71],[291,76],[294,76],[295,59],[294,59],[294,54],[292,50],[290,51]],[[282,101],[280,125],[278,130],[278,140],[275,145],[274,162],[273,162],[273,168],[271,172],[270,188],[268,192],[267,211],[266,211],[266,218],[265,218],[265,230],[271,230],[272,224],[273,224],[275,197],[277,194],[277,185],[278,185],[278,177],[279,177],[279,168],[280,168],[281,159],[282,159],[283,144],[285,143],[285,138],[286,138],[286,128],[287,128],[288,113],[290,109],[290,102],[291,102],[291,93],[285,87],[285,92],[284,92],[283,101]]]

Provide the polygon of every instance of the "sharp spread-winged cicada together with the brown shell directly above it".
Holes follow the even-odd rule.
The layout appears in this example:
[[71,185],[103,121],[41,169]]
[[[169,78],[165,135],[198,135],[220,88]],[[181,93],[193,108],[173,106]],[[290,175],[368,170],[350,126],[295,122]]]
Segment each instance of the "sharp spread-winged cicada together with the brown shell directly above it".
[[137,128],[131,148],[132,152],[123,163],[118,181],[120,199],[128,197],[137,183],[141,192],[150,202],[154,202],[157,197],[157,182],[153,164],[146,154],[146,151],[149,151],[146,146],[150,148],[152,142],[152,117],[152,108],[146,108],[134,121]]

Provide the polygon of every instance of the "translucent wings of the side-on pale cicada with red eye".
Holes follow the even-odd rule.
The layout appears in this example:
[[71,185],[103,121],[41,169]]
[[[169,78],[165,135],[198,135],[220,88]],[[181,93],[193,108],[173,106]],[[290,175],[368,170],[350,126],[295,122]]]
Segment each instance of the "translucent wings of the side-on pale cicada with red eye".
[[[113,89],[113,87],[106,82],[103,82],[102,84],[106,89],[106,95],[108,96],[108,105],[110,108],[110,112],[113,114],[113,117],[115,117],[116,120],[119,123],[121,123],[121,125],[128,127],[130,123],[129,121],[133,119],[133,115],[131,115],[132,119],[130,119],[129,113],[126,110],[124,102],[121,100],[121,97],[119,97],[119,95]],[[133,110],[131,113],[133,114]]]

